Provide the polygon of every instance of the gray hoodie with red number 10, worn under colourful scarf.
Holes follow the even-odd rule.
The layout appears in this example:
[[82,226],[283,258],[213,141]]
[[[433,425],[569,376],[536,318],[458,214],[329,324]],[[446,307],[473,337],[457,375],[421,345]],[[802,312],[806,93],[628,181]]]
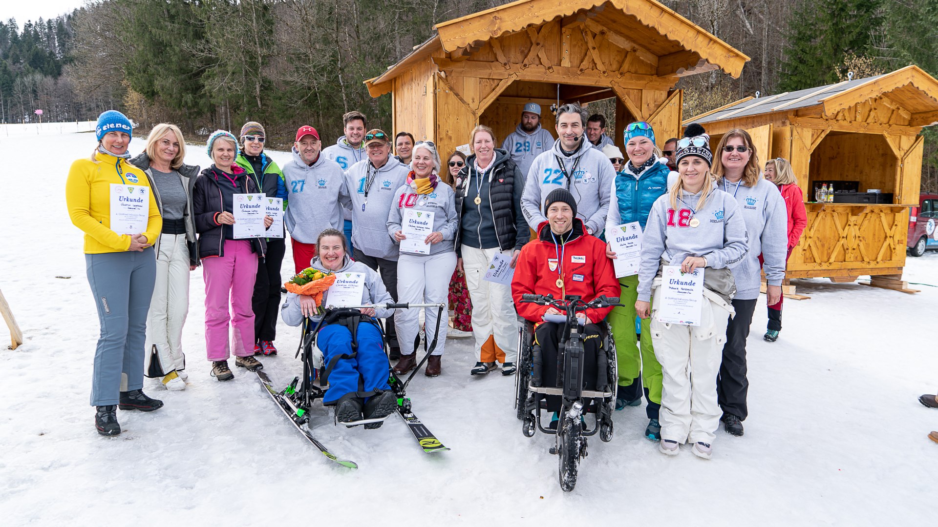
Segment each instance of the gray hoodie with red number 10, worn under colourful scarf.
[[[433,232],[443,233],[443,241],[430,246],[430,255],[456,250],[453,239],[460,225],[460,218],[456,214],[456,199],[453,189],[439,179],[436,188],[430,194],[417,194],[414,188],[404,183],[394,193],[394,203],[387,215],[387,233],[394,239],[394,233],[401,230],[403,209],[410,208],[433,213]],[[395,244],[401,245],[397,240]],[[410,253],[413,254],[413,253]]]

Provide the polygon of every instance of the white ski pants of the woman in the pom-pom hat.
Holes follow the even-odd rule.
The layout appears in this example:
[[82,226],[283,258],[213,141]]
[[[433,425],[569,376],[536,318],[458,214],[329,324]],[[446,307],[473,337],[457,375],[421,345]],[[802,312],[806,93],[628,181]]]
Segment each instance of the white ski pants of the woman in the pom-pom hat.
[[664,324],[658,322],[661,291],[654,291],[651,313],[652,344],[663,374],[661,439],[713,444],[721,414],[717,375],[733,308],[704,294],[700,325]]

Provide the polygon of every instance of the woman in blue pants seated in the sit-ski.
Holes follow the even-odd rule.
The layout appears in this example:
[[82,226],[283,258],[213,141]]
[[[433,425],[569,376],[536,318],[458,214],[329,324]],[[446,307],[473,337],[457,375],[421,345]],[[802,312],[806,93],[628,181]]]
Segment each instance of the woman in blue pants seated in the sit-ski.
[[[349,258],[345,235],[340,231],[326,229],[320,233],[316,240],[316,253],[318,256],[310,262],[314,269],[365,275],[361,298],[363,305],[394,301],[387,293],[381,277],[371,267]],[[329,305],[327,296],[328,291],[325,291],[323,306]],[[324,315],[317,313],[311,296],[291,293],[287,294],[280,313],[286,324],[299,325],[305,318],[310,318],[312,324],[318,324],[316,345],[323,352],[325,377],[329,383],[323,404],[335,405],[337,421],[349,423],[363,418],[385,418],[394,412],[397,399],[387,384],[390,366],[384,351],[381,327],[375,320],[375,317],[393,315],[393,309],[332,309],[325,313],[323,320]],[[376,429],[380,426],[379,421],[371,426],[366,425],[366,428]]]

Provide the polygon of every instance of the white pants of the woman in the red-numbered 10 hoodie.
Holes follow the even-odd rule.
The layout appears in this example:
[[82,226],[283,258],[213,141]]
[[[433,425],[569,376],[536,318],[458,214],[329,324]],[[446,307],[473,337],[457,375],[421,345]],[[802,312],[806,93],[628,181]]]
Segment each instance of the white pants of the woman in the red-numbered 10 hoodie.
[[[401,254],[398,258],[398,302],[410,304],[446,304],[449,299],[449,279],[456,269],[456,252],[448,251],[428,256]],[[427,346],[433,341],[436,328],[436,308],[423,308],[424,328],[426,328]],[[420,309],[397,309],[394,313],[394,327],[398,332],[398,344],[401,354],[414,353],[414,339],[420,332]],[[440,321],[440,334],[437,336],[434,355],[442,355],[446,348],[447,313],[443,309],[444,320]]]

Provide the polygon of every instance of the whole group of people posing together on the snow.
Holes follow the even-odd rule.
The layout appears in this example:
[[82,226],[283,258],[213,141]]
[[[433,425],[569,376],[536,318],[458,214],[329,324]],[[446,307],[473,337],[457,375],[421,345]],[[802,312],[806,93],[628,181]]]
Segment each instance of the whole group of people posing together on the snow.
[[[335,405],[342,422],[393,411],[390,365],[375,319],[385,319],[394,372],[416,368],[422,329],[428,342],[436,341],[424,373],[441,373],[448,324],[435,309],[426,310],[421,328],[417,309],[366,308],[340,319],[302,294],[288,294],[280,306],[289,233],[295,272],[360,273],[362,305],[448,302],[454,330],[474,339],[470,373],[476,376],[515,372],[519,317],[537,324],[541,349],[556,353],[560,328],[544,321],[556,309],[522,303],[522,294],[619,296],[623,307],[582,313],[586,335],[606,325],[613,332],[616,409],[638,406],[644,397],[645,435],[666,454],[689,443],[694,454],[709,458],[720,420],[742,435],[746,339],[761,270],[770,320],[765,339],[775,340],[786,259],[804,229],[790,165],[780,158],[760,165],[740,129],[721,138],[716,157],[698,125],[667,141],[662,152],[644,122],[624,130],[623,156],[602,115],[561,106],[554,140],[540,127],[540,113],[536,103],[526,104],[501,147],[492,128],[477,126],[468,138],[470,154],[454,152],[446,166],[432,141],[415,141],[408,132],[392,137],[350,112],[343,116],[344,135],[325,149],[315,128],[298,128],[293,158],[280,168],[264,152],[263,126],[249,122],[238,137],[224,130],[209,136],[213,162],[201,172],[183,162],[185,142],[174,125],[153,128],[144,153],[131,159],[131,123],[121,113],[102,113],[98,147],[91,158],[75,161],[67,183],[69,214],[85,233],[101,324],[91,397],[98,432],[119,433],[116,408],[162,406],[143,393],[144,372],[168,389],[185,388],[188,273],[199,265],[206,358],[219,381],[234,377],[231,354],[236,367],[255,370],[263,368],[255,355],[277,353],[278,309],[286,324],[319,323],[317,345],[332,365],[324,402]],[[138,213],[132,228],[113,212],[121,187],[144,198],[137,203],[146,220]],[[286,233],[234,236],[234,200],[252,193],[282,200]],[[418,245],[401,244],[409,211],[432,213],[431,232]],[[265,217],[265,226],[272,221]],[[643,230],[641,264],[616,277],[605,233],[633,222]],[[498,259],[514,269],[510,286],[485,279]],[[700,324],[658,321],[664,265],[684,273],[705,269]],[[328,304],[328,292],[321,303]],[[601,340],[584,340],[587,356]],[[336,358],[352,349],[355,360]]]

